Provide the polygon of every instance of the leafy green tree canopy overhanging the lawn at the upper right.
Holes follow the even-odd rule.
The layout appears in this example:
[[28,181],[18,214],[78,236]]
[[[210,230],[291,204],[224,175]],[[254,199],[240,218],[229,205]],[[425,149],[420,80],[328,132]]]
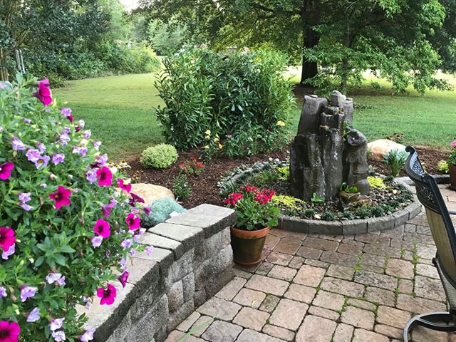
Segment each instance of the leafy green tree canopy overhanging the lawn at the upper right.
[[[273,46],[302,58],[301,83],[358,83],[375,69],[395,90],[445,88],[455,69],[455,0],[141,0],[136,13],[177,21],[216,48]],[[446,10],[446,12],[445,12]],[[319,66],[319,68],[317,68]],[[318,72],[319,71],[319,72]]]

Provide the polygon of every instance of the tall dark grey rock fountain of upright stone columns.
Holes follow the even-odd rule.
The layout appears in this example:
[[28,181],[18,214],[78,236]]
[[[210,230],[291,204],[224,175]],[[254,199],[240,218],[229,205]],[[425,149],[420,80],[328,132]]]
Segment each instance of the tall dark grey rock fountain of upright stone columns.
[[367,139],[352,127],[353,99],[337,90],[329,101],[316,95],[304,99],[291,145],[291,195],[305,201],[314,193],[336,199],[343,182],[369,195]]

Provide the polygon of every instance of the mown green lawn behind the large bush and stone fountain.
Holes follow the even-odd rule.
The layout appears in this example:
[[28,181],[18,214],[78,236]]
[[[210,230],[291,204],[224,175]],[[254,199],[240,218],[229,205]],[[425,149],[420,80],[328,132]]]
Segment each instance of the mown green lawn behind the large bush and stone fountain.
[[[445,77],[456,85],[456,78]],[[70,81],[53,93],[68,101],[75,118],[86,120],[111,159],[128,159],[163,141],[153,109],[162,104],[154,78],[155,74],[141,74]],[[349,93],[358,106],[354,125],[368,140],[405,133],[405,144],[446,148],[455,138],[455,91],[432,90],[420,96],[410,89],[406,95],[391,96],[387,83],[375,81],[383,87],[380,92],[374,92],[368,80],[363,88]],[[298,99],[301,104],[302,99]],[[294,110],[292,115],[291,135],[296,132],[300,112]]]

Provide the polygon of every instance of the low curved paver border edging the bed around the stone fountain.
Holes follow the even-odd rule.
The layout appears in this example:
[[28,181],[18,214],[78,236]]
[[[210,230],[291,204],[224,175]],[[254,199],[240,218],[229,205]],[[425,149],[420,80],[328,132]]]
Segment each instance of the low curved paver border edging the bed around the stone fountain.
[[[410,192],[412,188],[402,180],[395,180],[403,185]],[[383,217],[371,217],[369,219],[351,219],[347,221],[322,221],[319,219],[300,219],[282,215],[279,228],[292,232],[309,234],[328,234],[328,235],[353,235],[368,232],[378,232],[381,230],[399,227],[410,219],[413,219],[421,212],[421,203],[418,198],[413,196],[413,203],[407,207],[393,212],[393,214]]]

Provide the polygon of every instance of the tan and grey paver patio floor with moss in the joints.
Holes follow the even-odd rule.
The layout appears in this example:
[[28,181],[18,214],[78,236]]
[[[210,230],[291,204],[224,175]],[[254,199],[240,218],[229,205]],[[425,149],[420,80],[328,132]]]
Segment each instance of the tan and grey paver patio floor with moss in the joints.
[[[424,212],[351,237],[273,229],[265,249],[258,266],[235,266],[235,278],[167,342],[187,331],[188,342],[397,342],[410,317],[446,309]],[[413,341],[456,342],[456,334],[415,328]]]

